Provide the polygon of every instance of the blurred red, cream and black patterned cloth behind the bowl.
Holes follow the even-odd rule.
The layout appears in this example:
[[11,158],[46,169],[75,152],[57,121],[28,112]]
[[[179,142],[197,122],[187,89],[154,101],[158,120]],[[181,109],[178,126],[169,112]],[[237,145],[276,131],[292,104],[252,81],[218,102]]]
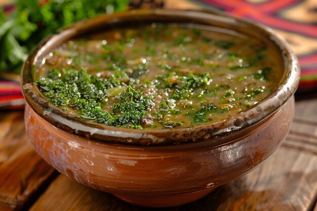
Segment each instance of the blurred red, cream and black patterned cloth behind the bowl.
[[[265,24],[286,38],[298,56],[302,70],[298,91],[317,90],[317,0],[132,0],[131,5],[210,9]],[[0,109],[23,107],[18,76],[0,74]]]

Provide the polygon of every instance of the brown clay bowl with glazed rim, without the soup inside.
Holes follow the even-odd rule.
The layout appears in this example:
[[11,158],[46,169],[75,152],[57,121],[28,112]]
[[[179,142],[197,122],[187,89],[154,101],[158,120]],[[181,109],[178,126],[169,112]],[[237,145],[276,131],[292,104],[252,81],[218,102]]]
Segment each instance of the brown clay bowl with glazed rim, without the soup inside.
[[[65,40],[140,22],[191,22],[248,34],[276,47],[284,65],[279,85],[258,104],[223,122],[191,128],[133,130],[71,116],[50,104],[34,85],[37,66]],[[22,70],[25,125],[35,150],[60,173],[138,205],[187,203],[251,170],[282,143],[294,116],[300,70],[296,56],[271,29],[205,12],[140,10],[101,16],[51,35]]]

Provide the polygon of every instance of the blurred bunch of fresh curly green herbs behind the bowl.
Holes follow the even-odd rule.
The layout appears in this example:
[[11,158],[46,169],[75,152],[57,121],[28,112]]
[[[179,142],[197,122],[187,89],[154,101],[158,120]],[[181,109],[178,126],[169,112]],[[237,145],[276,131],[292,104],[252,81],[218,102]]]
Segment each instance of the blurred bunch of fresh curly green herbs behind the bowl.
[[129,0],[18,0],[15,11],[0,11],[0,72],[20,72],[32,48],[60,27],[127,9]]

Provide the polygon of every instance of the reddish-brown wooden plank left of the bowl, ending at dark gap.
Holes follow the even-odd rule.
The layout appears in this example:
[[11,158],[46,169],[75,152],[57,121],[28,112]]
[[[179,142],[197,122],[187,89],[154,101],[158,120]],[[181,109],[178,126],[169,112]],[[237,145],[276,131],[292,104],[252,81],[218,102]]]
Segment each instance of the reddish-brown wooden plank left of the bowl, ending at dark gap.
[[20,210],[48,185],[56,171],[34,150],[23,111],[0,113],[0,210]]

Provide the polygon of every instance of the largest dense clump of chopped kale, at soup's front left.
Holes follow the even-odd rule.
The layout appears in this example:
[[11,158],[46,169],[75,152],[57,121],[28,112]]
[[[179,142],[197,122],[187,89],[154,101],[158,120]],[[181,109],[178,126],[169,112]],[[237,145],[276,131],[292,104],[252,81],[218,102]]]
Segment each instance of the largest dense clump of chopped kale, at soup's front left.
[[[35,84],[44,95],[50,97],[55,106],[71,106],[80,110],[78,117],[94,122],[126,128],[142,128],[141,122],[147,110],[155,104],[153,98],[143,97],[142,93],[128,86],[120,98],[120,104],[113,105],[113,114],[103,111],[99,101],[106,97],[105,90],[113,88],[116,77],[98,78],[82,68],[78,71],[68,70],[62,75],[57,70],[50,70],[48,78],[39,77]],[[117,77],[126,77],[120,72]],[[120,113],[120,114],[117,114]]]

